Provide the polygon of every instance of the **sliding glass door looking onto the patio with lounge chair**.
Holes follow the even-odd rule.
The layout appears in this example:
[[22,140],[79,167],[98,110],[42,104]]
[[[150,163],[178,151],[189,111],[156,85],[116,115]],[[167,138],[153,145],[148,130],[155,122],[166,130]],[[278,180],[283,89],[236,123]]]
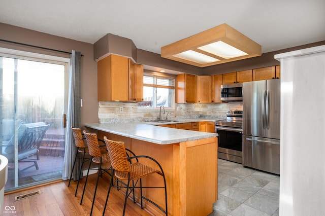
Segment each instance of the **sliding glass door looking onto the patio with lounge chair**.
[[0,55],[0,154],[5,190],[62,176],[68,64]]

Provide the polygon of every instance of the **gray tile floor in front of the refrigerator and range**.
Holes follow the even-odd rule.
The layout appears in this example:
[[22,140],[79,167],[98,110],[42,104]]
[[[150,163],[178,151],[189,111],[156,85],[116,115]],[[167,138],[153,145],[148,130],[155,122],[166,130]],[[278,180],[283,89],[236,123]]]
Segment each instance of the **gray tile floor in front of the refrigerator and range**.
[[280,177],[218,159],[218,201],[209,216],[279,215]]

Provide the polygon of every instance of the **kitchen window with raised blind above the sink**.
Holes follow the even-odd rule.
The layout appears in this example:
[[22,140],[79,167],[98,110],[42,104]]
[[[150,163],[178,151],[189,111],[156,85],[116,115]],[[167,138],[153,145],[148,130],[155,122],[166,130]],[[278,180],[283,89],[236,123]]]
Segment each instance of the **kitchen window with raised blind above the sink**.
[[138,102],[140,109],[154,109],[160,105],[174,108],[175,77],[162,73],[143,74],[143,101]]

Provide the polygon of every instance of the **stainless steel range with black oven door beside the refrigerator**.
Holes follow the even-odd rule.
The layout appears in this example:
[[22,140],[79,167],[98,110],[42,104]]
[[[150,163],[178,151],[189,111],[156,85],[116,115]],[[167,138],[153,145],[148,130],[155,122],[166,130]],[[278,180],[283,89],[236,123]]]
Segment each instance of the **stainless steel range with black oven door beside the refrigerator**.
[[218,136],[218,158],[243,163],[243,111],[228,111],[225,120],[215,121]]

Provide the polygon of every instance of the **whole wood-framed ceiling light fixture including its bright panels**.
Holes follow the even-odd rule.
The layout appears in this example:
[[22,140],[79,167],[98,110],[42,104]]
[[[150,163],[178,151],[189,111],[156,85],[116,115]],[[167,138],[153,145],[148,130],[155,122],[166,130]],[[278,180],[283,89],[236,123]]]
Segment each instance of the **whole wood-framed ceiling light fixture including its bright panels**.
[[261,45],[225,23],[161,47],[161,57],[199,67],[261,54]]

